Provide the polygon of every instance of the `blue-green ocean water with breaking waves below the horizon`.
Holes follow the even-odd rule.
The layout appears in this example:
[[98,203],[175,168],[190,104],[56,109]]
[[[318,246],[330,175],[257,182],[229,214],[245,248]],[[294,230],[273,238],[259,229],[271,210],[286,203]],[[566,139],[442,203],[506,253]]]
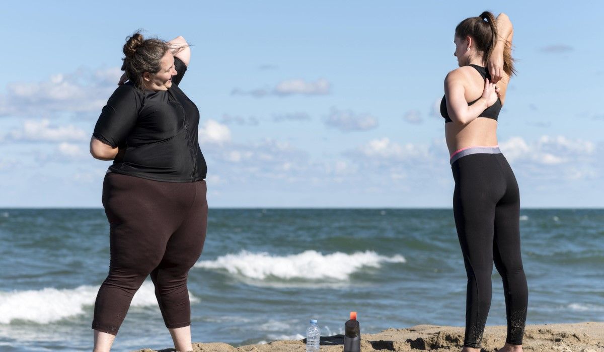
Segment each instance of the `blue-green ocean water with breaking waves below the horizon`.
[[[604,321],[604,210],[522,210],[527,324]],[[0,210],[0,350],[90,351],[109,267],[103,210]],[[487,324],[506,324],[493,271]],[[302,339],[464,325],[466,277],[452,210],[211,209],[189,274],[193,341]],[[172,346],[146,281],[115,351]]]

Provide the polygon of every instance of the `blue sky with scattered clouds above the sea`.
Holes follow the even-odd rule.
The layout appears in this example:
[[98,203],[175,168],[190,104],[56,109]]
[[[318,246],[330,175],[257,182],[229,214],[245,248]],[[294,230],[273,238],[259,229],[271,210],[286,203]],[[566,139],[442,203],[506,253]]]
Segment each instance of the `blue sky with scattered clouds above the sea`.
[[[144,7],[141,7],[144,4]],[[604,206],[600,2],[13,2],[0,28],[0,206],[100,207],[88,141],[124,39],[182,35],[210,206],[449,207],[453,32],[515,28],[498,137],[524,207]]]

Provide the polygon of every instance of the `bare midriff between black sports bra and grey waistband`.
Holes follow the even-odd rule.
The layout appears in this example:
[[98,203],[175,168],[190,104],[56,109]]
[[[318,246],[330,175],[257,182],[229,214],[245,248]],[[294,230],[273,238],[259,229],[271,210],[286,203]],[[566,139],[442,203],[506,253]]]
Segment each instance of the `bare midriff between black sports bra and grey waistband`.
[[445,138],[449,155],[457,150],[481,146],[497,145],[497,121],[492,118],[478,117],[468,124],[445,123]]

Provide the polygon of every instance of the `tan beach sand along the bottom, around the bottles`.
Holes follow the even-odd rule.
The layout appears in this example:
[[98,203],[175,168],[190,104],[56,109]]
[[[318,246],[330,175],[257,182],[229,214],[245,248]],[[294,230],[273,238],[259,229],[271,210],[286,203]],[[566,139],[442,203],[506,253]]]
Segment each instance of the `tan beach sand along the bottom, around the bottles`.
[[[405,329],[390,328],[377,334],[362,334],[361,351],[461,351],[463,344],[462,327],[437,325],[416,325]],[[321,351],[342,351],[344,336],[321,338]],[[505,326],[490,326],[484,331],[483,351],[495,352],[503,347],[506,340]],[[194,352],[263,352],[263,351],[305,351],[304,342],[274,341],[265,345],[233,347],[222,342],[193,344]],[[576,324],[527,325],[524,333],[524,351],[553,352],[604,352],[604,322],[581,322]],[[158,350],[139,350],[155,352]],[[172,352],[173,348],[159,350]]]

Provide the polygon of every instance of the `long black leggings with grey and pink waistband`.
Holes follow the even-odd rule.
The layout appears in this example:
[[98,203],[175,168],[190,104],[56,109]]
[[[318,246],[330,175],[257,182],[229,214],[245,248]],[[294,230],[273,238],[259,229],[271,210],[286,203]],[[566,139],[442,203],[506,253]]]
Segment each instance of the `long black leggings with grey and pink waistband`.
[[506,342],[521,345],[528,289],[520,254],[516,178],[498,148],[463,150],[454,155],[451,168],[455,226],[467,274],[464,346],[480,348],[490,308],[493,261],[506,298]]

